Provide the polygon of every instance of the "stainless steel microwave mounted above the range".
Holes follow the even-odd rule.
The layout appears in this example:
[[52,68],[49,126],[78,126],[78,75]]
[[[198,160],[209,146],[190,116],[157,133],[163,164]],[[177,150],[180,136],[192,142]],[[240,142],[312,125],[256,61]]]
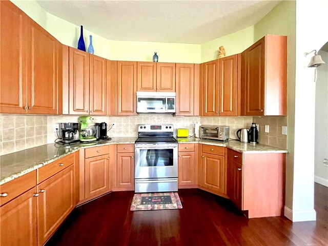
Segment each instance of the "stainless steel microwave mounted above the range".
[[175,92],[137,92],[137,113],[175,113]]

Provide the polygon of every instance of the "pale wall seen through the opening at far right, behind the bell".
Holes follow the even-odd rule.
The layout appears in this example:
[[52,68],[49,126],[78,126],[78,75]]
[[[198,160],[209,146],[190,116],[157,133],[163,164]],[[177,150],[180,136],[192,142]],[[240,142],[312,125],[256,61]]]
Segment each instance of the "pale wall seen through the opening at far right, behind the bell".
[[328,53],[319,54],[326,64],[318,67],[316,82],[314,181],[328,187],[328,167],[323,165],[328,159]]

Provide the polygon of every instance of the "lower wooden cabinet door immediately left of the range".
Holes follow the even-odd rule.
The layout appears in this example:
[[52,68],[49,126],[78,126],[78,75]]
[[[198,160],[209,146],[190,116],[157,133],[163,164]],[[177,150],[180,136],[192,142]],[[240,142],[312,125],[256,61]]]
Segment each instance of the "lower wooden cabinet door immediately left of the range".
[[134,153],[117,153],[116,187],[134,188]]

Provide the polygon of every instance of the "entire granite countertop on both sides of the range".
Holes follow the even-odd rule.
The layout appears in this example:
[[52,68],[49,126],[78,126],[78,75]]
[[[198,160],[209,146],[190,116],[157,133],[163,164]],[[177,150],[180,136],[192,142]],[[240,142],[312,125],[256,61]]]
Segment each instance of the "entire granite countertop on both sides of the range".
[[[72,144],[63,146],[48,144],[27,150],[0,156],[0,185],[18,178],[35,169],[43,167],[52,161],[71,154],[79,149],[91,148],[110,144],[134,144],[137,137],[113,137],[111,140],[99,140],[94,144]],[[200,138],[177,138],[179,144],[206,144],[227,147],[242,153],[288,153],[288,150],[267,145],[243,144],[236,140],[218,141]]]

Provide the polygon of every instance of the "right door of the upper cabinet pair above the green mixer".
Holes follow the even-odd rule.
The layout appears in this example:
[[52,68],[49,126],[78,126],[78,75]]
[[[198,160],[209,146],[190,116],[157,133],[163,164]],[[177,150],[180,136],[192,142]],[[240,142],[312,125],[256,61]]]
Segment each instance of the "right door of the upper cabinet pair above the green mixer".
[[106,115],[106,59],[90,54],[90,114]]

